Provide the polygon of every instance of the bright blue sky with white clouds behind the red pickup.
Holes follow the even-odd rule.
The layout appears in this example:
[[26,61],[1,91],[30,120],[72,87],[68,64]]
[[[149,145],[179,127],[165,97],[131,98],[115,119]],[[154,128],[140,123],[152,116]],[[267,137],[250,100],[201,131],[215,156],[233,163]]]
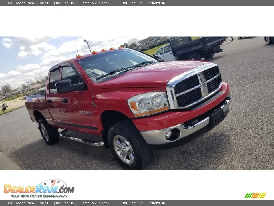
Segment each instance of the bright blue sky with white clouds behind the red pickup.
[[49,68],[58,62],[75,58],[78,53],[90,53],[84,39],[91,51],[100,51],[117,48],[132,38],[146,37],[0,37],[0,87],[5,84],[14,89],[21,87],[26,81],[47,75]]

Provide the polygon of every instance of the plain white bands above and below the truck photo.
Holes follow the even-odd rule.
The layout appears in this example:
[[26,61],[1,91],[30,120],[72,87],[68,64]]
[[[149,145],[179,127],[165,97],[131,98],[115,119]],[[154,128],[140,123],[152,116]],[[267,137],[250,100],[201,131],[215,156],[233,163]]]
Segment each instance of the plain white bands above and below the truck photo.
[[[2,7],[0,18],[0,36],[274,36],[271,7]],[[274,199],[273,175],[272,170],[0,171],[0,199],[11,199],[4,184],[35,186],[47,179],[75,187],[68,199],[79,200],[241,200],[247,192]]]

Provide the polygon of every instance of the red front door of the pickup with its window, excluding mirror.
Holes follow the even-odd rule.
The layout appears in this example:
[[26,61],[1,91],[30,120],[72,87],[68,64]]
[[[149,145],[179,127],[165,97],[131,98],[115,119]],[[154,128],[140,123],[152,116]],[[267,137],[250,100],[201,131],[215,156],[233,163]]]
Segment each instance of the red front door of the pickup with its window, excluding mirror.
[[74,130],[90,132],[97,130],[94,116],[92,115],[92,92],[90,87],[78,73],[74,65],[63,64],[61,66],[61,80],[70,79],[71,84],[84,82],[86,88],[80,91],[66,92],[60,94],[61,104],[63,106],[66,123],[69,128]]

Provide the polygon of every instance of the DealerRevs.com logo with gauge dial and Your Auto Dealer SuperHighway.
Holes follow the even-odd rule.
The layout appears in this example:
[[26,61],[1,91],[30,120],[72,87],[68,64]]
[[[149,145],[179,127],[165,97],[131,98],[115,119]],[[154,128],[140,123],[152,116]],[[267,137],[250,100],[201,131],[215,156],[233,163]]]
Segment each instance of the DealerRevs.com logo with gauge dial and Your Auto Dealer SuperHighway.
[[[73,193],[74,187],[67,187],[66,183],[58,179],[50,179],[36,186],[12,186],[4,185],[4,193],[11,193],[11,197],[49,197],[66,198],[68,193]],[[57,194],[58,193],[58,194]]]

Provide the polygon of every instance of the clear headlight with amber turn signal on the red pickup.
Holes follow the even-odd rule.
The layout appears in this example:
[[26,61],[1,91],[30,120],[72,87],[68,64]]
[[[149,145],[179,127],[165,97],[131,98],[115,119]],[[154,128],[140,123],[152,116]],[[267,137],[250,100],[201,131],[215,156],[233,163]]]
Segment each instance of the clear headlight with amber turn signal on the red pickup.
[[128,99],[128,106],[135,117],[169,110],[166,92],[148,92]]

